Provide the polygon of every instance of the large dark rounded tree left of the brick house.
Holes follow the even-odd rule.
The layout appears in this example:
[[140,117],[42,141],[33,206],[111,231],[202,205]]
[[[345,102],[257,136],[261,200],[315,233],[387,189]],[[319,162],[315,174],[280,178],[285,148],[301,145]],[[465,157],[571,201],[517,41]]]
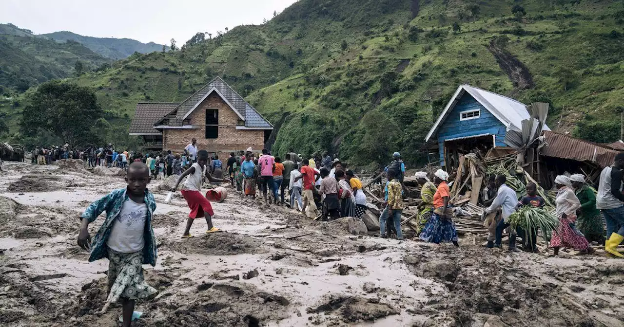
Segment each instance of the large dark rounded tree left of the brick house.
[[72,146],[97,139],[92,127],[104,111],[90,88],[53,80],[39,85],[28,102],[20,122],[22,134],[51,132]]

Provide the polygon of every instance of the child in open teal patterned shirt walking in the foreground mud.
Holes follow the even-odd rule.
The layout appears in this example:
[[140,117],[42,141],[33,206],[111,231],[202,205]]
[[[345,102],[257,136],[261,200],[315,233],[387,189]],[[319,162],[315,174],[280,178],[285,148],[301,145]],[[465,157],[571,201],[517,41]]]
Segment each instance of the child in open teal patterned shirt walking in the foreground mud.
[[[109,258],[109,296],[102,313],[110,303],[119,302],[124,327],[129,327],[134,318],[135,301],[146,300],[157,293],[145,283],[141,267],[147,263],[155,266],[157,256],[152,229],[156,201],[147,190],[150,180],[149,168],[144,163],[130,164],[125,177],[128,186],[93,202],[80,216],[78,245],[91,250],[89,262]],[[87,227],[103,211],[106,211],[104,224],[91,242]]]

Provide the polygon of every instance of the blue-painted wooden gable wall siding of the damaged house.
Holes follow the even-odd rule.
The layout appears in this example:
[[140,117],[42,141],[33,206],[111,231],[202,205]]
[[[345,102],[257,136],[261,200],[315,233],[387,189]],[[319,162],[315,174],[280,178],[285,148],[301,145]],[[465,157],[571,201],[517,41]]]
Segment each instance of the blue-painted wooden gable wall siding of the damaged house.
[[[459,120],[461,111],[477,109],[481,110],[479,118]],[[437,131],[441,165],[444,166],[444,140],[489,133],[496,136],[496,146],[506,146],[504,142],[506,130],[505,125],[477,102],[472,95],[464,93]]]

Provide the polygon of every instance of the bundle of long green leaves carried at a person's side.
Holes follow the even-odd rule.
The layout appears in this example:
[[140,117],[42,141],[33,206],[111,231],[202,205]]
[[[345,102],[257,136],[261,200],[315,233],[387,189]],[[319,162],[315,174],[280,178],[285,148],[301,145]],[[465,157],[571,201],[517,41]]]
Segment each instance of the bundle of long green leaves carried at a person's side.
[[514,212],[507,218],[507,222],[513,229],[520,227],[525,230],[525,235],[532,241],[531,230],[542,230],[542,237],[544,241],[548,243],[552,231],[559,227],[559,220],[553,216],[550,212],[542,207],[524,206],[518,211]]

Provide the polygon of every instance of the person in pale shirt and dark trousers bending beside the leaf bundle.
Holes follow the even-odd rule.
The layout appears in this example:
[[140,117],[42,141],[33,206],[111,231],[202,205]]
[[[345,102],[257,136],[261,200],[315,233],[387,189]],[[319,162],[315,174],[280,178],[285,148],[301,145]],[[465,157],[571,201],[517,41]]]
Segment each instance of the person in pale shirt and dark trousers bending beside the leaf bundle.
[[[502,242],[503,230],[509,227],[510,224],[507,224],[507,218],[511,216],[515,212],[515,206],[518,204],[518,198],[515,194],[515,191],[511,189],[505,182],[507,182],[507,178],[504,175],[496,176],[496,186],[499,187],[499,191],[496,194],[494,202],[492,205],[485,209],[485,214],[490,214],[495,210],[502,209],[502,218],[498,225],[496,225],[496,237],[494,242],[494,247],[502,247],[500,243]],[[512,230],[509,233],[509,250],[511,252],[520,252],[517,247],[515,247],[515,230]],[[491,241],[488,242],[487,247],[492,247],[490,244]]]

